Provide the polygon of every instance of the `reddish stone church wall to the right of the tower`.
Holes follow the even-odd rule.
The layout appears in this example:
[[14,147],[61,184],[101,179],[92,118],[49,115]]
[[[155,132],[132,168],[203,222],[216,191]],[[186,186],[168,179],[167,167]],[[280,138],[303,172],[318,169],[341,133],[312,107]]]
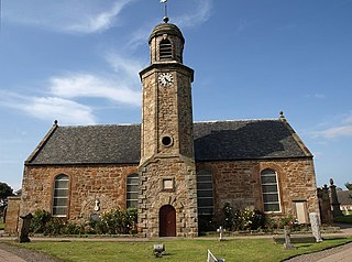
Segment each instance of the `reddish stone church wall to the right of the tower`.
[[319,212],[316,175],[310,159],[198,163],[197,172],[209,170],[212,173],[216,218],[222,216],[224,203],[234,208],[263,210],[260,174],[266,168],[277,173],[279,186],[282,212],[273,216],[295,216],[294,201],[297,200],[306,200],[308,212]]

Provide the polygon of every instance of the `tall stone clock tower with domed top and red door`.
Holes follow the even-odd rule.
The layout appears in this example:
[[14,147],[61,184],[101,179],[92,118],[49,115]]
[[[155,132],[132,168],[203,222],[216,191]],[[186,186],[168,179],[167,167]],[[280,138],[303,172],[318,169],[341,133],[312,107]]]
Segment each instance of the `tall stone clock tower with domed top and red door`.
[[143,85],[139,230],[144,237],[196,237],[197,183],[191,83],[183,64],[185,39],[164,19],[150,40]]

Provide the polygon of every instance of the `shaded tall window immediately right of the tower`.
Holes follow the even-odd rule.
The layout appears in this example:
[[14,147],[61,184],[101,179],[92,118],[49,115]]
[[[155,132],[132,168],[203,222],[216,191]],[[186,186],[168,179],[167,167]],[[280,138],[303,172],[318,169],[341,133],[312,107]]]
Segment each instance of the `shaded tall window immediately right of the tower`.
[[213,214],[212,176],[210,171],[197,173],[198,215]]

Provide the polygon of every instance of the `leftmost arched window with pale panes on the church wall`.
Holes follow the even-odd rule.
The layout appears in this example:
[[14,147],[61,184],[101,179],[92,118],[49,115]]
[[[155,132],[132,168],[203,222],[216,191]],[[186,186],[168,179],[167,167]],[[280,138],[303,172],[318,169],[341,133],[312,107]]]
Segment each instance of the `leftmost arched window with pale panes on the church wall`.
[[53,216],[66,217],[68,205],[68,176],[58,175],[54,182]]

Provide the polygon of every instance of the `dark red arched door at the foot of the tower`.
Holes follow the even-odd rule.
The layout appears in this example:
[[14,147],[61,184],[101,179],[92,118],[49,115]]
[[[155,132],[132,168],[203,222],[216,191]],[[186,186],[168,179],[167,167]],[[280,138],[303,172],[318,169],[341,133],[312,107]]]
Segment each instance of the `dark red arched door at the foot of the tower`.
[[160,237],[176,237],[176,210],[172,205],[166,205],[158,211]]

